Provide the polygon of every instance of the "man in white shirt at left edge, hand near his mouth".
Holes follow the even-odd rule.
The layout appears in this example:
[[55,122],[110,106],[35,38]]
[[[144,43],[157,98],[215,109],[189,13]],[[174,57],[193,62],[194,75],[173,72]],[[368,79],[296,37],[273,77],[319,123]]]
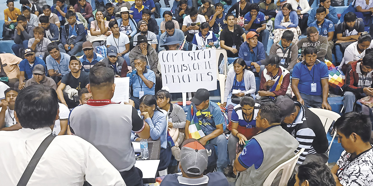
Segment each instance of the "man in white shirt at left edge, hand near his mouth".
[[[1,90],[0,90],[1,91]],[[18,90],[9,88],[4,91],[5,100],[1,101],[0,130],[16,131],[22,126],[14,118],[14,103],[18,95]]]

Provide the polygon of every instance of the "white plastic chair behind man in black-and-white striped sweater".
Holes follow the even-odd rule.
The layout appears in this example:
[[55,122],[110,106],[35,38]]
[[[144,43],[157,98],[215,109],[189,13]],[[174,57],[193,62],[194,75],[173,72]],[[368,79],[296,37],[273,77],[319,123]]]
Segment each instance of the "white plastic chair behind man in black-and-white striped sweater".
[[[333,112],[331,110],[326,110],[326,109],[320,109],[320,108],[308,108],[310,109],[313,113],[315,113],[317,116],[319,116],[322,124],[324,125],[325,128],[325,133],[327,134],[327,131],[329,130],[330,126],[332,125],[333,121],[337,121],[341,115],[339,115],[336,112]],[[333,141],[335,136],[337,135],[337,131],[334,131],[332,141],[329,144],[329,147],[327,149],[327,155],[329,156],[329,151],[330,148],[332,147]],[[327,163],[326,163],[327,164]]]

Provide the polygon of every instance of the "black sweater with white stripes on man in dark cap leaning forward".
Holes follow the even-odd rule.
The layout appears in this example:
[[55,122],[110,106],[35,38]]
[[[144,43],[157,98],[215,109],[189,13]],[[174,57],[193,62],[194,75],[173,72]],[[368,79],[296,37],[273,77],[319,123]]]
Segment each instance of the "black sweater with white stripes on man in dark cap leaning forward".
[[299,102],[294,103],[300,107],[297,118],[292,124],[282,124],[281,126],[299,142],[295,153],[304,148],[304,152],[300,155],[297,162],[302,164],[307,154],[325,153],[328,149],[328,141],[319,117]]

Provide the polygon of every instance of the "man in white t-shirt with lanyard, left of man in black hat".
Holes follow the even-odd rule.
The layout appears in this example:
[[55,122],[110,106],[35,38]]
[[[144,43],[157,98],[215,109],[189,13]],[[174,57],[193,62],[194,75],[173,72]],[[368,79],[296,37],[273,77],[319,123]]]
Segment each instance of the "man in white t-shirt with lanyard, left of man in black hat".
[[[109,22],[109,28],[113,32],[106,39],[107,48],[114,46],[117,49],[118,55],[123,58],[128,58],[129,55],[129,38],[126,34],[119,32],[119,26],[116,21]],[[126,60],[127,61],[127,60]],[[129,58],[128,58],[129,61]]]

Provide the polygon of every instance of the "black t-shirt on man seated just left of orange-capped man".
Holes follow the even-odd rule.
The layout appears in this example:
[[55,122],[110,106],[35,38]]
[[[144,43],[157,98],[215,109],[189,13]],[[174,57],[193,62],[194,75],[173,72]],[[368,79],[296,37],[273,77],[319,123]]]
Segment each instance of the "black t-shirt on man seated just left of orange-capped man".
[[[233,25],[233,32],[229,31],[228,26],[223,29],[220,33],[220,41],[224,41],[224,44],[228,47],[232,47],[236,45],[236,49],[239,50],[239,47],[242,44],[242,34],[244,30],[242,30],[241,26]],[[233,54],[231,51],[227,50],[228,57],[238,57],[238,52]]]

